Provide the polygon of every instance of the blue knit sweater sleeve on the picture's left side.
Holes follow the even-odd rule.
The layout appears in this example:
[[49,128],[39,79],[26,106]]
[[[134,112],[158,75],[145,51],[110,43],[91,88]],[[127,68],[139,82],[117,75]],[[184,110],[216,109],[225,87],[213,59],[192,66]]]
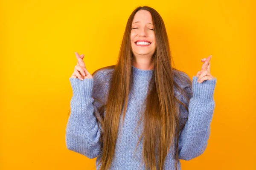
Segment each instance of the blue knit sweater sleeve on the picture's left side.
[[[66,127],[68,150],[93,159],[101,152],[100,128],[96,122],[93,92],[98,92],[98,82],[102,74],[96,72],[91,79],[69,78],[73,96],[70,102],[71,113]],[[95,104],[95,105],[93,105]]]

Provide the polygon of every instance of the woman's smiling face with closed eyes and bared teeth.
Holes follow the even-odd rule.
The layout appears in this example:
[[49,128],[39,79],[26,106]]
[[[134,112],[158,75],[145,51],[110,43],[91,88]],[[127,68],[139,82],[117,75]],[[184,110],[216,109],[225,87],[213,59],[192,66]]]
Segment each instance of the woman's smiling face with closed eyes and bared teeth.
[[140,10],[131,25],[131,48],[136,57],[152,57],[156,49],[154,26],[149,11]]

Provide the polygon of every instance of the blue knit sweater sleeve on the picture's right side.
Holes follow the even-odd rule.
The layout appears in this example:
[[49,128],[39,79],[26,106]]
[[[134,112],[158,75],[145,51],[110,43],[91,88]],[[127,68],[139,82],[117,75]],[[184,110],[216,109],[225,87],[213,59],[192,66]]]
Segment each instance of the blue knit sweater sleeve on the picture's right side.
[[187,161],[204,153],[215,108],[213,93],[216,78],[201,83],[198,83],[197,80],[198,77],[194,76],[192,87],[186,85],[184,89],[190,96],[189,102],[182,101],[186,103],[189,113],[186,111],[187,122],[179,137],[178,158]]

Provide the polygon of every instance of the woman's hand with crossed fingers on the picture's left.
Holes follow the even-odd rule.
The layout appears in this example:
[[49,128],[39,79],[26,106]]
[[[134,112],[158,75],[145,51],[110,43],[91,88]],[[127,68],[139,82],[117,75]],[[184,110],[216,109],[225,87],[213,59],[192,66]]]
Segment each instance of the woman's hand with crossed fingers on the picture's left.
[[75,54],[77,65],[75,66],[74,72],[70,78],[79,78],[80,80],[93,78],[93,76],[87,71],[85,67],[83,60],[84,54],[81,54],[81,56],[77,52],[75,52]]

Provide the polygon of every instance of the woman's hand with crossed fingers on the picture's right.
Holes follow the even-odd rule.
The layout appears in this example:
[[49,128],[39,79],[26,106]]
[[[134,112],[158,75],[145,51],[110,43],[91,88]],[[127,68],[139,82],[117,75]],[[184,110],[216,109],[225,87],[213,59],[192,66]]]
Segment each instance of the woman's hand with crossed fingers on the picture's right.
[[201,59],[201,62],[204,62],[202,65],[201,71],[198,71],[196,74],[196,77],[198,77],[198,82],[201,83],[204,80],[211,80],[214,79],[214,77],[210,74],[210,59],[212,55],[210,55],[207,58]]

